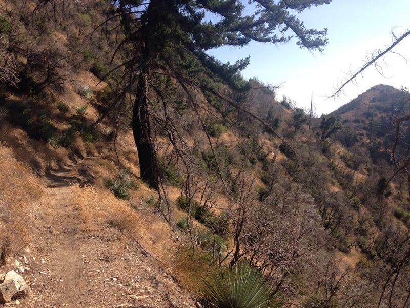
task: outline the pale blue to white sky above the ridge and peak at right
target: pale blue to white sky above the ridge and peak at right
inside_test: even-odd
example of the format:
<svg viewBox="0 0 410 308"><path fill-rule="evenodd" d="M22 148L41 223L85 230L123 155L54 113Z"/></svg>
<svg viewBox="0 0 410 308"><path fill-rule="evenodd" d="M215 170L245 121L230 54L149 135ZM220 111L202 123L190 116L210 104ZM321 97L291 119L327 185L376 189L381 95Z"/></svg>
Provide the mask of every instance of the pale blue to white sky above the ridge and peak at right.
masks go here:
<svg viewBox="0 0 410 308"><path fill-rule="evenodd" d="M339 98L330 99L349 70L360 68L366 55L384 49L393 41L392 30L400 35L410 28L410 0L333 0L329 5L312 7L299 15L306 28L327 28L329 44L322 53L310 52L296 45L251 42L242 48L222 47L211 50L217 59L231 63L251 56L242 71L244 78L256 77L264 83L282 85L277 98L285 95L298 107L310 106L311 93L316 113L329 113L350 102L378 84L400 89L410 87L410 37L406 38L380 62L383 75L368 68L355 84L350 84ZM406 57L409 61L403 59Z"/></svg>

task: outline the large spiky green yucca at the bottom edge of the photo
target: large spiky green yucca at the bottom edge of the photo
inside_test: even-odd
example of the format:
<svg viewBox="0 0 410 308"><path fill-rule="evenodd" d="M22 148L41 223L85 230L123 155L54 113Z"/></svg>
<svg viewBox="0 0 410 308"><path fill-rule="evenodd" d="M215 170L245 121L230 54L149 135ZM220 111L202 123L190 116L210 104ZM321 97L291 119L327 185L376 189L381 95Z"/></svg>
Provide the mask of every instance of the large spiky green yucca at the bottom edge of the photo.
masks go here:
<svg viewBox="0 0 410 308"><path fill-rule="evenodd" d="M200 287L202 302L209 308L276 308L277 295L262 274L247 262L223 268L206 277Z"/></svg>

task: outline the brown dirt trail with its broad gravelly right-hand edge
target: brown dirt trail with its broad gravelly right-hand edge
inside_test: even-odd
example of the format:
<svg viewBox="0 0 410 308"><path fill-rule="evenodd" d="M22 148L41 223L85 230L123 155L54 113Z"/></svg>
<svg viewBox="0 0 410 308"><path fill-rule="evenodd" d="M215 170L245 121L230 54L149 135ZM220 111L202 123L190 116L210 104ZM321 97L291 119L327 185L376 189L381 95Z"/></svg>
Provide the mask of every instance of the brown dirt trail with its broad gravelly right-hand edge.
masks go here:
<svg viewBox="0 0 410 308"><path fill-rule="evenodd" d="M132 237L108 225L92 231L84 225L71 183L84 183L78 170L89 169L81 160L50 172L34 214L30 251L20 258L33 298L20 306L195 307Z"/></svg>

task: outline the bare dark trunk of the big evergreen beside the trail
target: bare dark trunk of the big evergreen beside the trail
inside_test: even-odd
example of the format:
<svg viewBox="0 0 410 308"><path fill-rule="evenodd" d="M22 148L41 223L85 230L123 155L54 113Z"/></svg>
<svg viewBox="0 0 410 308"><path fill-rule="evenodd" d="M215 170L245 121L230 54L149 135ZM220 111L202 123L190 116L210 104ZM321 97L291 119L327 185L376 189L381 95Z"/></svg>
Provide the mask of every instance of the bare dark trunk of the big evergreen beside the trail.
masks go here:
<svg viewBox="0 0 410 308"><path fill-rule="evenodd" d="M147 71L141 71L138 77L137 93L132 112L132 132L138 150L141 179L152 188L158 189L159 167L152 140L147 95Z"/></svg>

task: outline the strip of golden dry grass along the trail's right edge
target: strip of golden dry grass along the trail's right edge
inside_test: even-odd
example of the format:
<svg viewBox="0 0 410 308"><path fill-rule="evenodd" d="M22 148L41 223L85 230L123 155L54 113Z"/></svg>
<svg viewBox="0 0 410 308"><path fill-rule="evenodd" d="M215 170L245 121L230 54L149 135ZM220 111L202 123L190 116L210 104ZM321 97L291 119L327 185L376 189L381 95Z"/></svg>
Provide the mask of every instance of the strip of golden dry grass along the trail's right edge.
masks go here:
<svg viewBox="0 0 410 308"><path fill-rule="evenodd" d="M141 188L149 192L144 185ZM176 242L170 226L160 216L149 210L135 210L129 202L118 200L105 189L73 187L73 191L73 198L88 229L97 230L109 225L121 230L128 240L135 238L187 290L195 293L198 289L196 282L214 269L209 255L194 255L189 245ZM138 191L141 193L140 189ZM141 200L144 202L145 199Z"/></svg>

